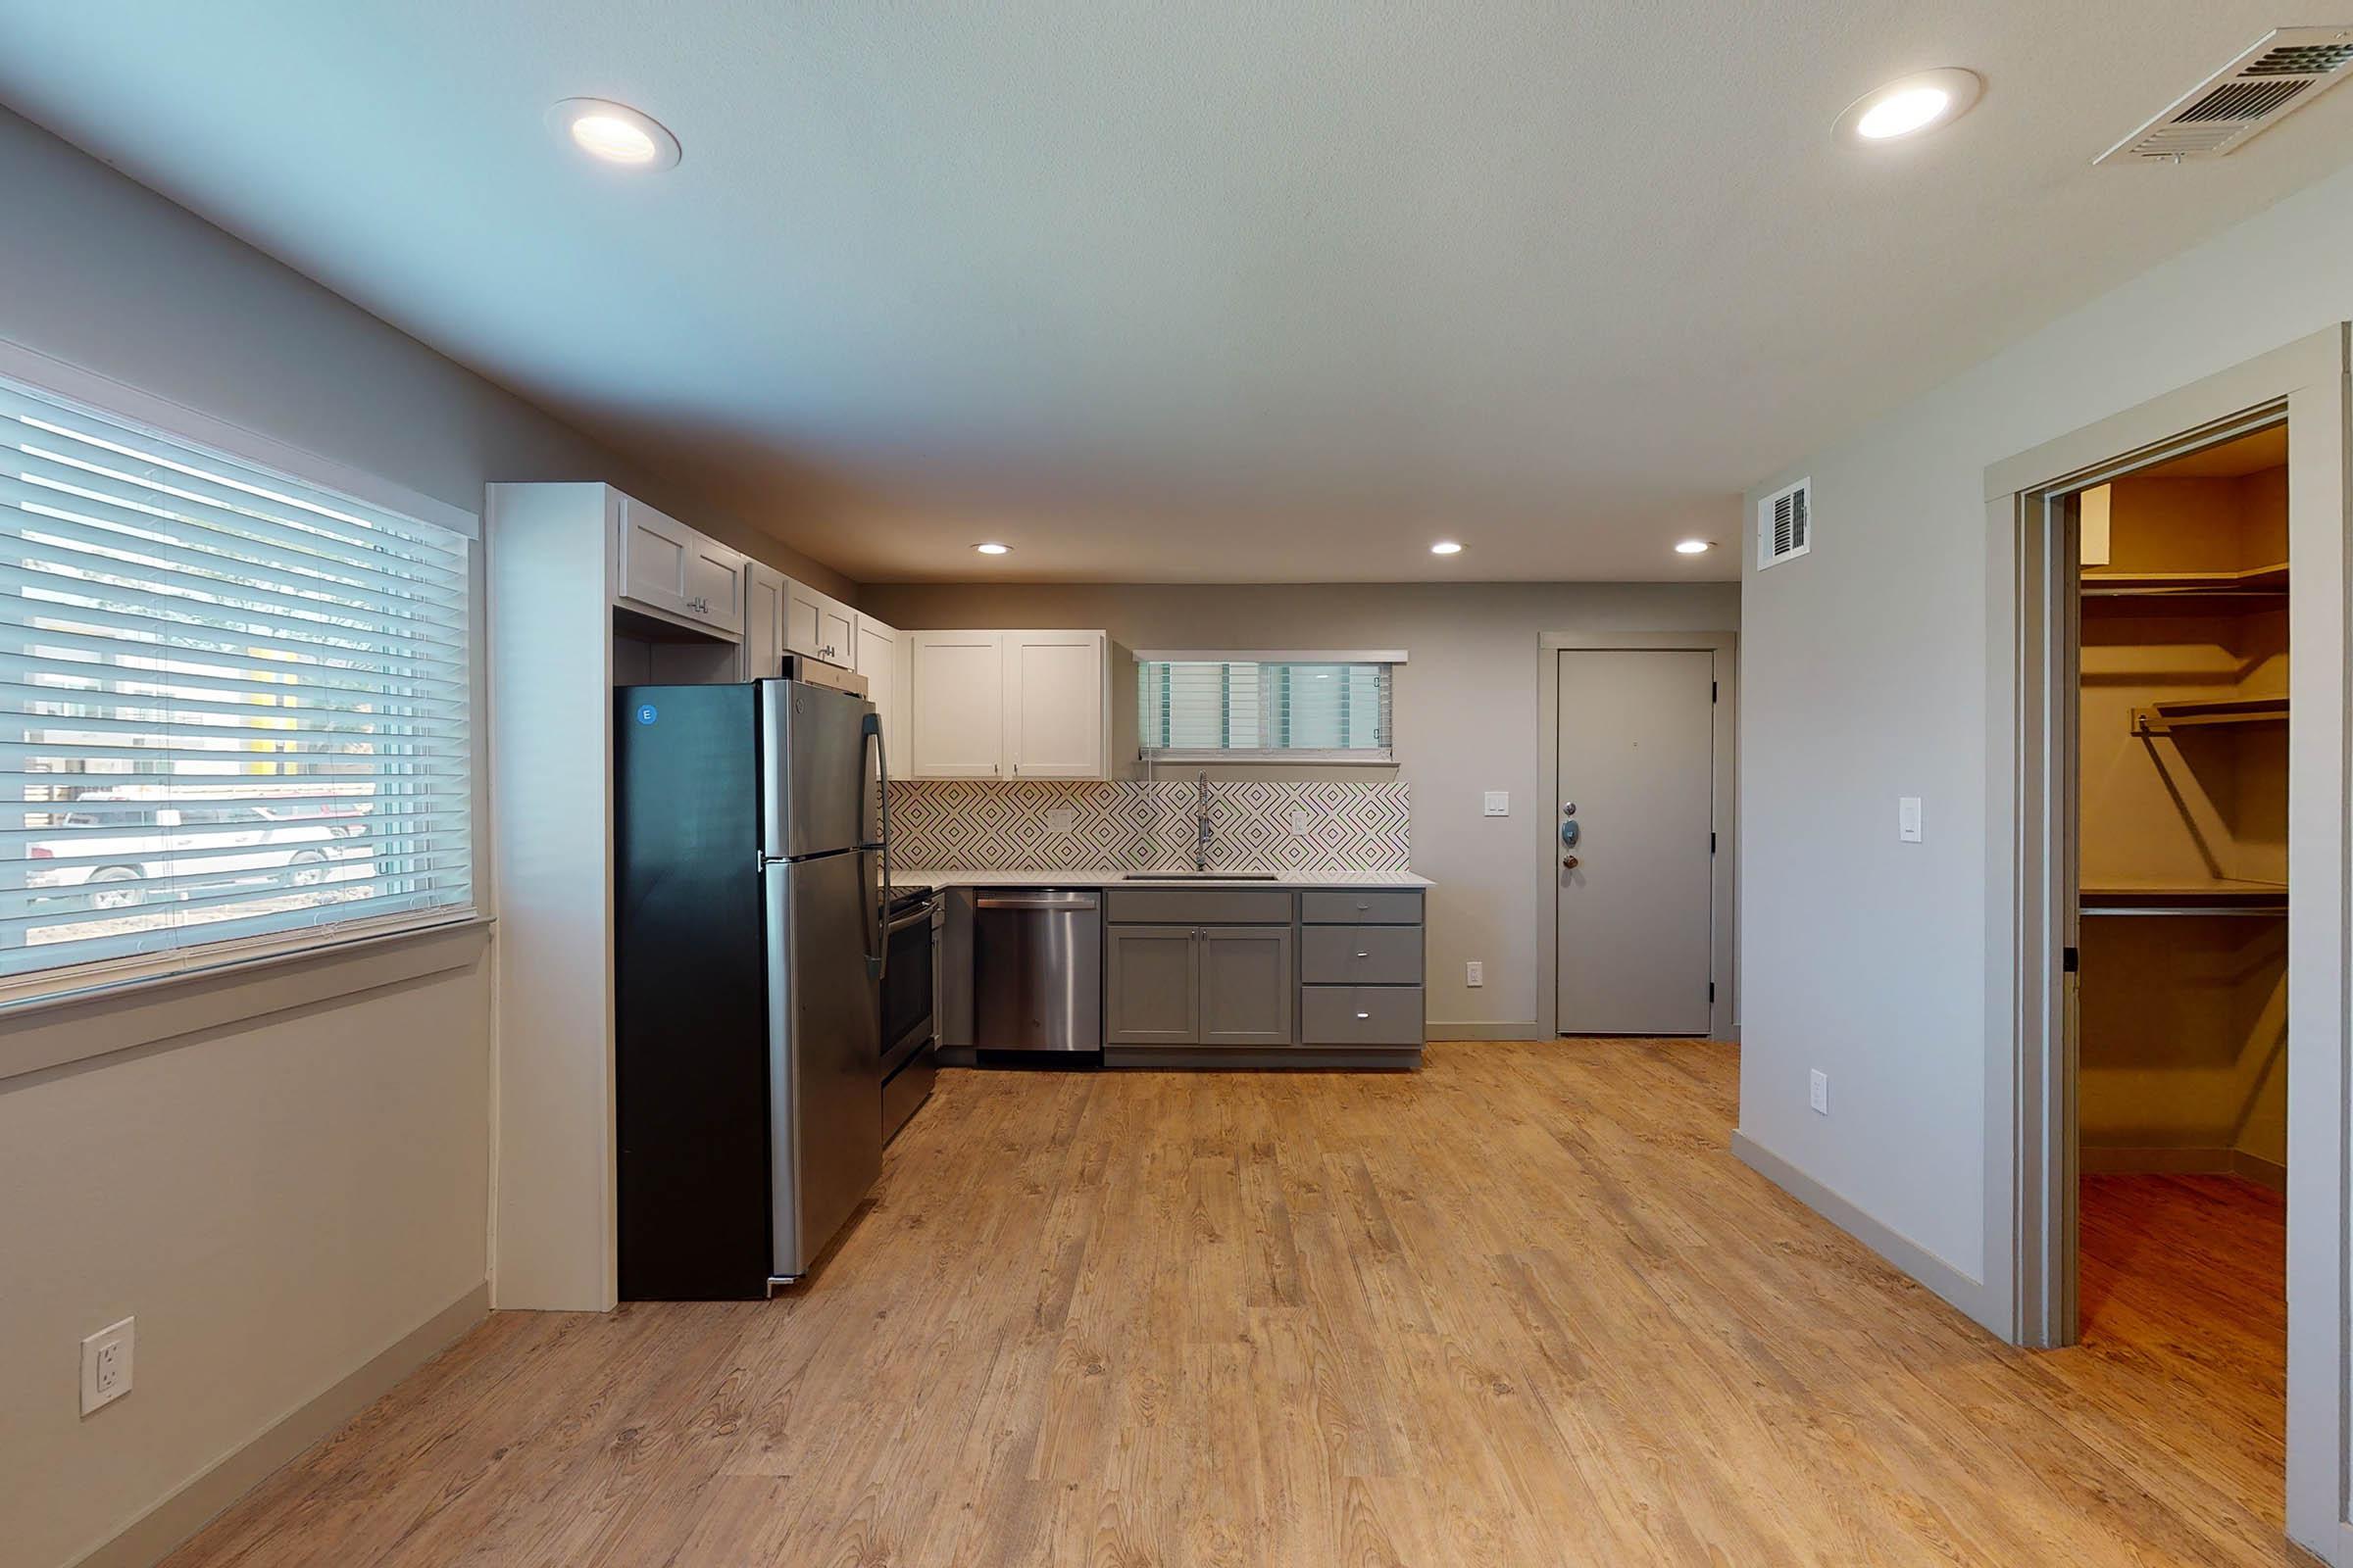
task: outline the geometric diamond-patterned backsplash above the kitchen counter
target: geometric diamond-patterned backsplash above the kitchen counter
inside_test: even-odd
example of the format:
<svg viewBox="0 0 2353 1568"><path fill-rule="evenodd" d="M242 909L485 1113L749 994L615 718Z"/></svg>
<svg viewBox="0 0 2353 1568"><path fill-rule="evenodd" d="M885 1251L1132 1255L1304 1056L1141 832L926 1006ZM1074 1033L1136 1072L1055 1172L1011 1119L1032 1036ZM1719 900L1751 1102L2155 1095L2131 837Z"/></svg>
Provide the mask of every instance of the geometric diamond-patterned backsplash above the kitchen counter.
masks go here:
<svg viewBox="0 0 2353 1568"><path fill-rule="evenodd" d="M1049 811L1068 811L1071 830L1049 832ZM889 853L918 870L1179 870L1193 865L1193 785L1174 780L915 778L889 790ZM1402 872L1412 823L1402 783L1212 783L1209 867Z"/></svg>

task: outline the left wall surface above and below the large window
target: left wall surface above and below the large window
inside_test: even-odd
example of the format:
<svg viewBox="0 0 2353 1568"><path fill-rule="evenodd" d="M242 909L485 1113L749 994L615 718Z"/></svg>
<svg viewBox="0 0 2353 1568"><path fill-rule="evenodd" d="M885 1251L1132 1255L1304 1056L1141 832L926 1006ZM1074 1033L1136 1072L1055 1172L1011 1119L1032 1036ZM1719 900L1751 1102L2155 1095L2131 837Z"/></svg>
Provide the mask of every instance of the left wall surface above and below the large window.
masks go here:
<svg viewBox="0 0 2353 1568"><path fill-rule="evenodd" d="M0 190L0 339L468 510L616 480L845 588L7 113ZM80 1559L478 1291L489 1095L487 961L0 1079L0 1561ZM82 1420L125 1314L136 1387Z"/></svg>

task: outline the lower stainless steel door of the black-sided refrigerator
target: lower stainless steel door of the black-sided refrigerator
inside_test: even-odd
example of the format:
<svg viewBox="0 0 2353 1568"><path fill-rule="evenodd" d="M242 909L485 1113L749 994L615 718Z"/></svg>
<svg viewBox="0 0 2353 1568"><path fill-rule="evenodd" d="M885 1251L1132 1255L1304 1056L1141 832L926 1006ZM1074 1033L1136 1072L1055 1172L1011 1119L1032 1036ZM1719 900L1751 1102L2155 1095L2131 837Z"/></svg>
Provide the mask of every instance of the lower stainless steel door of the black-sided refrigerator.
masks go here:
<svg viewBox="0 0 2353 1568"><path fill-rule="evenodd" d="M774 1276L800 1279L882 1175L882 1025L866 976L873 851L765 872Z"/></svg>

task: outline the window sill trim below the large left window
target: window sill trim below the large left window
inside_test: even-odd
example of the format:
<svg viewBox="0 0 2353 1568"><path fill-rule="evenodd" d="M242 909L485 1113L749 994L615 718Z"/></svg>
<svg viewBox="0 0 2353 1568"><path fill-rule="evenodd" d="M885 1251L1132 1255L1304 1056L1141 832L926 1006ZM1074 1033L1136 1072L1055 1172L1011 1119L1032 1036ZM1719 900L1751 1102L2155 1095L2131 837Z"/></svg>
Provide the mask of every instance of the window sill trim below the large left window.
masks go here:
<svg viewBox="0 0 2353 1568"><path fill-rule="evenodd" d="M471 914L209 969L26 997L0 1009L0 1081L466 969L482 957L492 926L489 917Z"/></svg>

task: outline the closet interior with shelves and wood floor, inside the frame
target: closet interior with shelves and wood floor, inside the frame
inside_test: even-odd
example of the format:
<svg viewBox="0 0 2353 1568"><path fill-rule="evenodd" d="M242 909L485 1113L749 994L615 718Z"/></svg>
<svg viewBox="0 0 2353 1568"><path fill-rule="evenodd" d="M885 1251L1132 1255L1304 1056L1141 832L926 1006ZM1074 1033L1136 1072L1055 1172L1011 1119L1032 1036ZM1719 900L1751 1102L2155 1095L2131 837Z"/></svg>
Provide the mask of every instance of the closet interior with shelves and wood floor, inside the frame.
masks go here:
<svg viewBox="0 0 2353 1568"><path fill-rule="evenodd" d="M2075 541L2073 1335L2280 1474L2287 421L2061 494ZM2061 806L2068 802L2061 802ZM2273 1481L2275 1483L2275 1481Z"/></svg>

